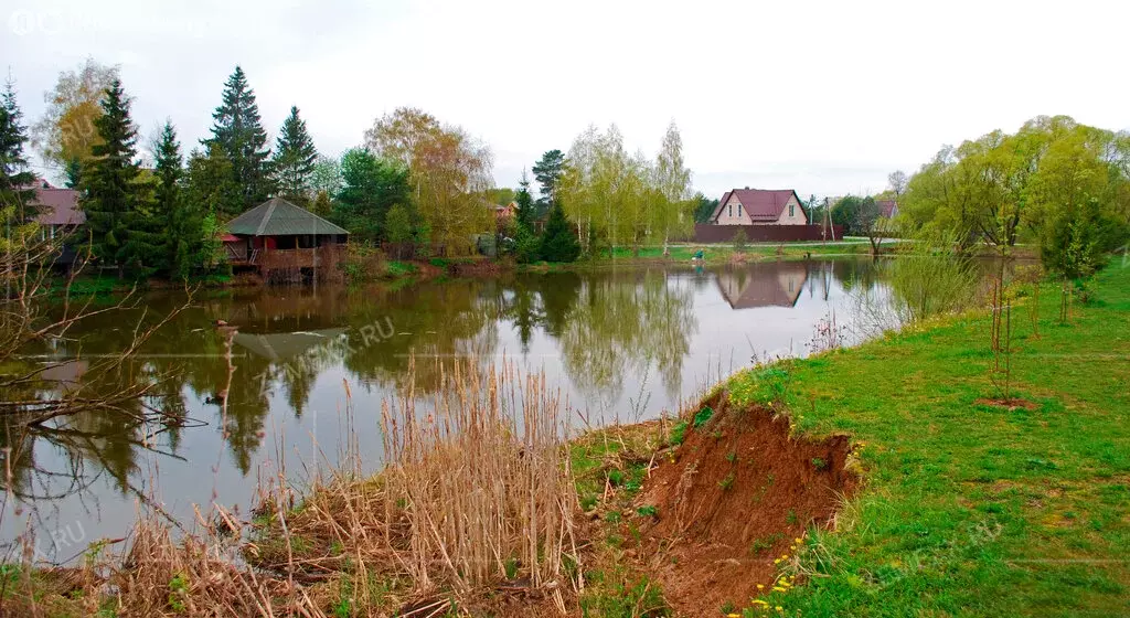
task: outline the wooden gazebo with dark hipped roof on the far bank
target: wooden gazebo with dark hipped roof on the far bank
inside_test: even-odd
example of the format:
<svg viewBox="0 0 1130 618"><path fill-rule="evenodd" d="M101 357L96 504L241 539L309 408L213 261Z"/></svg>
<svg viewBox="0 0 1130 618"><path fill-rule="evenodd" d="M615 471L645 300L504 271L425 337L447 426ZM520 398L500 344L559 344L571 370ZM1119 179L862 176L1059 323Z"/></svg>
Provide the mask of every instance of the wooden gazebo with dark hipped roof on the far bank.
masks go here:
<svg viewBox="0 0 1130 618"><path fill-rule="evenodd" d="M332 275L348 237L348 232L305 208L271 198L232 219L223 241L233 267L252 267L270 280L305 272L315 278Z"/></svg>

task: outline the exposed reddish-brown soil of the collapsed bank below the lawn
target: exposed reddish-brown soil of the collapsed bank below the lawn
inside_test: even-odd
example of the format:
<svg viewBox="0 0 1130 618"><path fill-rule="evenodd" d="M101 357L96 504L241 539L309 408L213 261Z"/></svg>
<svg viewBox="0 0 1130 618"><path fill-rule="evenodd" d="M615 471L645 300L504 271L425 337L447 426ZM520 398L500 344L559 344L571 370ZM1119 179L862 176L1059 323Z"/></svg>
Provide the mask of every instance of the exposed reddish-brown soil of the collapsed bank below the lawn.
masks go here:
<svg viewBox="0 0 1130 618"><path fill-rule="evenodd" d="M658 515L643 526L642 556L663 595L686 616L746 607L757 584L772 587L775 558L810 524L827 525L855 476L844 465L846 436L789 436L789 423L764 408L729 407L725 393L703 406L714 416L688 428L681 446L652 471L640 506ZM728 409L729 408L729 409Z"/></svg>

